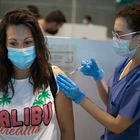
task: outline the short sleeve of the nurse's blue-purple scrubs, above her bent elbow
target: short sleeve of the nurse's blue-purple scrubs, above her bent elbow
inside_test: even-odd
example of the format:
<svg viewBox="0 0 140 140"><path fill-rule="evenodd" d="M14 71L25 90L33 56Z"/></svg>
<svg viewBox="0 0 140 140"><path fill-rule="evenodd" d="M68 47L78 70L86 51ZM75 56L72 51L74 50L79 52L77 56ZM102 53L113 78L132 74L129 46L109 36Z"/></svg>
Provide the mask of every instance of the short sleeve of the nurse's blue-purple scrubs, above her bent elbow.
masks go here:
<svg viewBox="0 0 140 140"><path fill-rule="evenodd" d="M140 80L126 90L120 104L119 115L128 117L134 122L140 119Z"/></svg>

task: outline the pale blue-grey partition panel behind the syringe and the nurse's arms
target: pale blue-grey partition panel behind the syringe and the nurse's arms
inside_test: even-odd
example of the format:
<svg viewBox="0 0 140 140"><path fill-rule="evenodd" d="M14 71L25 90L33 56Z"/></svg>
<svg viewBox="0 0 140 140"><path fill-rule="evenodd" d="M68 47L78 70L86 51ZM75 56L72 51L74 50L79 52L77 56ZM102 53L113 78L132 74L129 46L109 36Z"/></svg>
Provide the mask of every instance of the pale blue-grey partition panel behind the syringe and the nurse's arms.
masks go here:
<svg viewBox="0 0 140 140"><path fill-rule="evenodd" d="M121 60L121 57L114 53L111 41L49 38L48 44L52 55L55 55L54 59L57 57L60 58L61 55L62 57L59 59L60 61L63 61L63 56L73 58L69 59L70 61L67 61L67 63L63 63L62 68L65 65L64 70L67 73L76 66L79 66L81 60L95 58L104 69L105 79L107 80L109 76L112 75L115 65ZM53 46L54 50L52 49ZM55 49L55 47L58 48ZM73 62L71 60L73 60ZM58 62L58 65L61 64L60 61ZM57 61L54 62L56 62L57 65ZM71 69L70 67L68 68L67 65L68 67L70 66ZM83 90L88 97L95 100L100 107L106 110L97 95L95 83L92 78L83 76L80 72L77 72L71 78L79 85L81 90ZM86 113L79 105L74 103L73 105L76 140L99 140L104 131L103 126Z"/></svg>

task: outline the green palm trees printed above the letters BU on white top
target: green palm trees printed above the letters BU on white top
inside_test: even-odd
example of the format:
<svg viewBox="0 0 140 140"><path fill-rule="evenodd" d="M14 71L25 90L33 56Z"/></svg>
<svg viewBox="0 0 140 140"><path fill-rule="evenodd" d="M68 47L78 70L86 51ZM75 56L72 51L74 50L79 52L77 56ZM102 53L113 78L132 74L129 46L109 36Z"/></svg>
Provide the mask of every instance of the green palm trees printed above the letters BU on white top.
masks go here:
<svg viewBox="0 0 140 140"><path fill-rule="evenodd" d="M45 104L47 98L50 99L49 91L43 90L34 100L33 106L42 106Z"/></svg>

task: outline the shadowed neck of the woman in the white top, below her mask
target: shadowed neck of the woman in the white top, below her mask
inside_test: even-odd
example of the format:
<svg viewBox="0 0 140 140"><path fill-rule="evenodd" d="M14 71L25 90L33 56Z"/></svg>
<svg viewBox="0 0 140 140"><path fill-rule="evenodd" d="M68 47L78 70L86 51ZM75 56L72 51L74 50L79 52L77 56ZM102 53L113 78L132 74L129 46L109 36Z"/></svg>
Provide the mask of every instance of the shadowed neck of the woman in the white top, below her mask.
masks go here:
<svg viewBox="0 0 140 140"><path fill-rule="evenodd" d="M15 79L25 79L29 76L29 69L15 68Z"/></svg>

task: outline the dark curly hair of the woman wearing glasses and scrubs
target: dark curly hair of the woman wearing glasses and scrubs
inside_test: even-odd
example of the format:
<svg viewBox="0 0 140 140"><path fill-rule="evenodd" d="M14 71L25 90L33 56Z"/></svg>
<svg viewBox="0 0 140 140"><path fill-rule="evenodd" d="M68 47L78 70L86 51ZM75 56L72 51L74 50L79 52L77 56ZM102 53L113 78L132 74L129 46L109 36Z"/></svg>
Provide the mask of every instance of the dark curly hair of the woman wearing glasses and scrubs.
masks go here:
<svg viewBox="0 0 140 140"><path fill-rule="evenodd" d="M126 19L129 29L140 31L140 3L124 6L116 14L116 18L119 17Z"/></svg>

